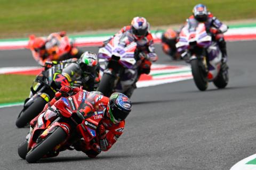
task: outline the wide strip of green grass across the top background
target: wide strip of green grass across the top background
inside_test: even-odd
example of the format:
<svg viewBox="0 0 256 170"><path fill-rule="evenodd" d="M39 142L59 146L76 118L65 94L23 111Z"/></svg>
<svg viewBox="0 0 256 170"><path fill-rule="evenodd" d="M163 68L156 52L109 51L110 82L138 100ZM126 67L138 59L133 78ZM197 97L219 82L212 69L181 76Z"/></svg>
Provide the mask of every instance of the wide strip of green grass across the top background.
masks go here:
<svg viewBox="0 0 256 170"><path fill-rule="evenodd" d="M0 0L0 38L121 28L137 15L154 26L183 23L197 3L206 4L221 20L256 15L255 0Z"/></svg>

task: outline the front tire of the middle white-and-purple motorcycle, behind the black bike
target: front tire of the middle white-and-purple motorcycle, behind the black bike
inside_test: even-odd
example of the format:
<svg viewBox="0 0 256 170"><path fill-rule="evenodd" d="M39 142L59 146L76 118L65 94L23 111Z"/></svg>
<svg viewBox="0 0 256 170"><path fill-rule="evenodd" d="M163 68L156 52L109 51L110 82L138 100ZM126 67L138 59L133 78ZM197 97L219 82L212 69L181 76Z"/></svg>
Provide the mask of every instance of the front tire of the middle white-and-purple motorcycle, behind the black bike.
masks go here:
<svg viewBox="0 0 256 170"><path fill-rule="evenodd" d="M103 74L97 91L100 91L104 96L109 97L113 91L114 81L115 79L113 75Z"/></svg>

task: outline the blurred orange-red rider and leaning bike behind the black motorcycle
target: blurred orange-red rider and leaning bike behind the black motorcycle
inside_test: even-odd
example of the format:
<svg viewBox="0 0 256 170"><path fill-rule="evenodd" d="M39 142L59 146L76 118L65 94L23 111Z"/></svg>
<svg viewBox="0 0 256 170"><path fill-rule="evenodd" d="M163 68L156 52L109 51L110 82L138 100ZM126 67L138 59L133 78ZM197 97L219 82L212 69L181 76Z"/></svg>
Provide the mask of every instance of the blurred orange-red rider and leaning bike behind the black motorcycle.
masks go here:
<svg viewBox="0 0 256 170"><path fill-rule="evenodd" d="M46 61L62 61L71 57L79 58L81 52L72 45L66 45L66 52L58 53L62 41L68 41L65 31L51 33L47 38L29 37L29 48L35 60L43 65ZM66 42L65 42L66 43Z"/></svg>

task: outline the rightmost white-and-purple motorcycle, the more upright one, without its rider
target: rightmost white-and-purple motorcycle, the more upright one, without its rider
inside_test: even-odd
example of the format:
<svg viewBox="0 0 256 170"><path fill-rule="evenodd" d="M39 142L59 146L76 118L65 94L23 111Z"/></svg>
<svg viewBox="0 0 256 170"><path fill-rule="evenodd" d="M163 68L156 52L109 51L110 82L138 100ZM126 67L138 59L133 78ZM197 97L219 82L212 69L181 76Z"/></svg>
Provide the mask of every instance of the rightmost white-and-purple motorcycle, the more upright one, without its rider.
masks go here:
<svg viewBox="0 0 256 170"><path fill-rule="evenodd" d="M218 44L207 33L204 23L187 25L180 33L176 45L181 56L191 64L191 71L197 88L204 91L208 82L217 88L228 84L228 70L221 66L221 51Z"/></svg>

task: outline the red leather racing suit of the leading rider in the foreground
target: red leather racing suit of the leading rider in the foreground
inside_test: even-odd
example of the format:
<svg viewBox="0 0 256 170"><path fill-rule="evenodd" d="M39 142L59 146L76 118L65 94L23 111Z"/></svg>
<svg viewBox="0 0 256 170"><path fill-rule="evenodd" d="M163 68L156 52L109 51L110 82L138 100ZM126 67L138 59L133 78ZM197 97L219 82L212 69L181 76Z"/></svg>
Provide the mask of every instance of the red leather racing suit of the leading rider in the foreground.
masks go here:
<svg viewBox="0 0 256 170"><path fill-rule="evenodd" d="M48 107L51 107L58 99L61 98L61 96L63 96L63 93L61 91L64 88L69 88L68 92L72 91L74 92L74 95L80 89L78 87L74 87L74 88L71 88L68 86L62 87L60 91L56 92L55 97L48 104L45 105L43 111L39 115L43 114ZM108 103L109 103L108 97L101 95L101 92L98 92L98 91L92 91L92 92L89 92L86 90L84 91L87 93L87 98L85 99L85 103L89 102L90 103L89 105L93 106L93 108L89 106L85 107L84 116L90 112L103 112L103 118L98 124L98 128L97 128L98 141L92 143L91 146L86 146L85 141L83 139L79 139L78 141L73 143L73 146L77 151L83 151L88 157L94 158L98 154L100 154L101 151L107 151L114 145L114 143L123 133L125 121L121 121L117 124L114 124L107 117ZM36 116L30 122L30 126L32 128L34 128L35 124L37 123L37 119L39 115ZM103 132L102 131L100 132L99 128L103 129ZM53 156L57 156L58 154L59 152L57 152L57 154Z"/></svg>

